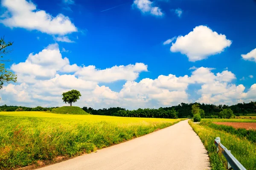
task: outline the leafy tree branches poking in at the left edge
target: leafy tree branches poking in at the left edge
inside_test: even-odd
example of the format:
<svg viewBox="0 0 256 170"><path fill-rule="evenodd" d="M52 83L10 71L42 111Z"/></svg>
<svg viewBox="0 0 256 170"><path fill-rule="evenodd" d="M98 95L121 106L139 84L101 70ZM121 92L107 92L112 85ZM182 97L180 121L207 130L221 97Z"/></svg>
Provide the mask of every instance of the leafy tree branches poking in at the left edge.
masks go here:
<svg viewBox="0 0 256 170"><path fill-rule="evenodd" d="M13 42L6 42L4 41L4 37L0 38L0 89L3 88L3 83L9 82L16 82L17 75L13 74L11 71L7 71L5 68L4 63L2 62L9 62L9 59L1 59L3 58L3 54L9 54L12 50L9 50L8 47L12 45ZM0 98L1 99L1 98Z"/></svg>

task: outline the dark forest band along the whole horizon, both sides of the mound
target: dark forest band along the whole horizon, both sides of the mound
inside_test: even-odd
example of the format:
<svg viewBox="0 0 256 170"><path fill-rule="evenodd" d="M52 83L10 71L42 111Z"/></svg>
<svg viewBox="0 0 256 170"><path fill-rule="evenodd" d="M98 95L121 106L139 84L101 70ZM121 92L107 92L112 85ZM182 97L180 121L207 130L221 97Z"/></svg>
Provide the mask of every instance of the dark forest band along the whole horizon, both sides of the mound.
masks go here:
<svg viewBox="0 0 256 170"><path fill-rule="evenodd" d="M203 118L221 118L221 111L230 108L236 116L247 115L249 113L256 113L256 102L239 103L236 105L209 105L200 103L181 103L177 106L159 109L137 109L126 110L125 108L103 108L95 110L93 108L83 107L82 109L87 113L93 115L106 115L106 116L125 116L125 117L155 117L155 118L185 118L192 117L192 105L198 104L199 108L204 110ZM51 111L52 108L43 108L38 106L36 108L28 108L22 106L0 106L0 111Z"/></svg>

